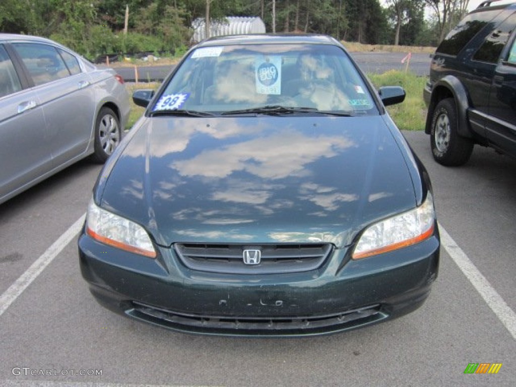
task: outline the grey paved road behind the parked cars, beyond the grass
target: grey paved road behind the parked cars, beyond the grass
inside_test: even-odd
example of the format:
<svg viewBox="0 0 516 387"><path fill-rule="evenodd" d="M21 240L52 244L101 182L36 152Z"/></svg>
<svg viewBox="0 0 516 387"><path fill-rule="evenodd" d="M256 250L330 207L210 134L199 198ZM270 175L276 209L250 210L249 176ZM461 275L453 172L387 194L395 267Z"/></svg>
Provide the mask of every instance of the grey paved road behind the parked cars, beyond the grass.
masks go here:
<svg viewBox="0 0 516 387"><path fill-rule="evenodd" d="M351 53L359 66L367 73L384 73L391 69L405 70L407 62L401 63L407 53ZM417 75L427 75L430 69L429 54L412 54L409 62L409 70ZM116 66L116 64L114 64ZM126 82L161 82L172 70L172 66L140 66L135 71L134 67L117 67L116 71Z"/></svg>

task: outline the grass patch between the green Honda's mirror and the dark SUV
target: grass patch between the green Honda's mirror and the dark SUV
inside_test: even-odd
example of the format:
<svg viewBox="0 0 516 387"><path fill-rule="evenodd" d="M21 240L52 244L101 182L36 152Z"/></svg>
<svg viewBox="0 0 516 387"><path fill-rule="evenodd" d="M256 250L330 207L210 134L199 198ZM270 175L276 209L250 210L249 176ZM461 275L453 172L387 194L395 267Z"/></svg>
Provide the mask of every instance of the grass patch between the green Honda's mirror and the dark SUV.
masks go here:
<svg viewBox="0 0 516 387"><path fill-rule="evenodd" d="M426 77L410 72L390 70L383 74L367 74L376 88L381 86L401 86L407 96L398 105L388 106L387 110L400 130L422 131L425 128L426 106L423 89Z"/></svg>

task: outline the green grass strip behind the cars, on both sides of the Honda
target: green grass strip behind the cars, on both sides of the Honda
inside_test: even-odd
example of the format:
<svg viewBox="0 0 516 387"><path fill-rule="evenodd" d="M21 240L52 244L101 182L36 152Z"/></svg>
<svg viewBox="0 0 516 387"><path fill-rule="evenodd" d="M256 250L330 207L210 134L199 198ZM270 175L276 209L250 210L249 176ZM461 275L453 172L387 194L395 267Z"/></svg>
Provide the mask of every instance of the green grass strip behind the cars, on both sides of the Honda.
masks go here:
<svg viewBox="0 0 516 387"><path fill-rule="evenodd" d="M387 110L400 130L424 130L426 106L423 101L423 88L425 87L426 77L397 70L391 70L383 74L367 74L367 76L376 88L381 86L401 86L404 88L407 93L405 101L398 105L389 106ZM159 83L156 82L125 85L131 95L135 90L157 90L158 86ZM125 125L125 130L129 130L144 111L143 107L136 106L131 99L131 114Z"/></svg>

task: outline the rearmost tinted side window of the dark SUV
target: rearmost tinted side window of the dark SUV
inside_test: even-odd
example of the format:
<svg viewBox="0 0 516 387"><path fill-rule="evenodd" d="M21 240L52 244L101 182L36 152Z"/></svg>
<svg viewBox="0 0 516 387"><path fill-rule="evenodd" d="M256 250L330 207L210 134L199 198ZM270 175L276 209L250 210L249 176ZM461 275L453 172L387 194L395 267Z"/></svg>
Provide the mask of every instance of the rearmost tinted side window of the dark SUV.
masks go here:
<svg viewBox="0 0 516 387"><path fill-rule="evenodd" d="M472 12L452 29L439 45L437 52L456 56L483 27L496 15L499 9L482 12Z"/></svg>

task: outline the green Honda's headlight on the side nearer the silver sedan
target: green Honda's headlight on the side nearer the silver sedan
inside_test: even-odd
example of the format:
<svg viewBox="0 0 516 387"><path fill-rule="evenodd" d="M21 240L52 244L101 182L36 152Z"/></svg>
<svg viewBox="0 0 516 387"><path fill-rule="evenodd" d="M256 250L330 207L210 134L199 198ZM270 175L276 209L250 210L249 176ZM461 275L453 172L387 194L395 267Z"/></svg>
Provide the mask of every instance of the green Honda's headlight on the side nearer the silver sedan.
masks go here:
<svg viewBox="0 0 516 387"><path fill-rule="evenodd" d="M88 205L86 233L106 245L156 257L149 234L139 224L98 207L93 199Z"/></svg>

